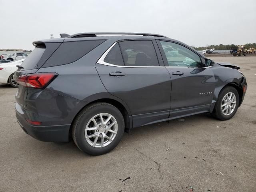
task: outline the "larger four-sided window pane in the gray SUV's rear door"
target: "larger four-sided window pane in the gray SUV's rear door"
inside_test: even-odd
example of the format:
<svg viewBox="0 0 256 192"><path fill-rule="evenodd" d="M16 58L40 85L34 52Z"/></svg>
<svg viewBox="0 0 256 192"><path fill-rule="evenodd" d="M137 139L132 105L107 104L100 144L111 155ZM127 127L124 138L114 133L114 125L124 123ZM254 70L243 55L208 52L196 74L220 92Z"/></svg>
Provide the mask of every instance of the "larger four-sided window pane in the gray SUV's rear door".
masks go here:
<svg viewBox="0 0 256 192"><path fill-rule="evenodd" d="M159 66L151 40L132 40L119 43L125 66Z"/></svg>

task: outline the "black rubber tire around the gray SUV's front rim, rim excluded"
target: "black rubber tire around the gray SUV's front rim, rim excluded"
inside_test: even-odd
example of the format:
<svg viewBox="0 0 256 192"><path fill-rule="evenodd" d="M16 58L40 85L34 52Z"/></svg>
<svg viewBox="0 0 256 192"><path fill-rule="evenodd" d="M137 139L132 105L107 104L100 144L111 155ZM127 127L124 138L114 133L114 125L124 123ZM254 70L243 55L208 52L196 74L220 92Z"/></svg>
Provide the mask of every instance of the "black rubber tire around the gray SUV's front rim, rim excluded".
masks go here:
<svg viewBox="0 0 256 192"><path fill-rule="evenodd" d="M224 96L227 93L229 93L229 92L234 93L234 95L236 96L236 106L234 108L234 111L230 115L224 115L223 112L222 112L222 108L221 108L222 100L223 100ZM236 114L238 106L239 106L239 94L238 94L238 91L236 90L236 88L234 88L232 86L226 86L226 87L224 87L220 91L220 94L218 96L218 100L217 100L217 102L215 104L215 107L214 107L214 110L212 112L212 115L215 118L217 118L218 120L229 120L229 119L231 119Z"/></svg>

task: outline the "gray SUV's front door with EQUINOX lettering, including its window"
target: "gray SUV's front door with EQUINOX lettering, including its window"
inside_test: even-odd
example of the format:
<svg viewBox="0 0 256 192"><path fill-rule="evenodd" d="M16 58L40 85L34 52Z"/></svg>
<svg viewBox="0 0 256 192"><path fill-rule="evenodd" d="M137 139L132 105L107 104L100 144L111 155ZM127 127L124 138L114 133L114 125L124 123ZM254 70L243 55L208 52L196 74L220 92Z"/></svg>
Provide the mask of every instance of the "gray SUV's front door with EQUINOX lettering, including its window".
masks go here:
<svg viewBox="0 0 256 192"><path fill-rule="evenodd" d="M172 81L170 119L207 112L212 103L215 77L211 67L192 49L176 42L158 41Z"/></svg>

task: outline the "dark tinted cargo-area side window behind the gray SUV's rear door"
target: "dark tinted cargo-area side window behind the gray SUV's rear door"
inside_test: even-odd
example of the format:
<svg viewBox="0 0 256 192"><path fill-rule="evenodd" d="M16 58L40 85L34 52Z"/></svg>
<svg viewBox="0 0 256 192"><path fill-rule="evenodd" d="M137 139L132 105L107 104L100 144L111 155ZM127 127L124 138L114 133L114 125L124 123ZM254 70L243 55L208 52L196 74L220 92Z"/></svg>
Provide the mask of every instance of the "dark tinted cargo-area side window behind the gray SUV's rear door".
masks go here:
<svg viewBox="0 0 256 192"><path fill-rule="evenodd" d="M63 42L42 67L69 64L80 59L105 40Z"/></svg>

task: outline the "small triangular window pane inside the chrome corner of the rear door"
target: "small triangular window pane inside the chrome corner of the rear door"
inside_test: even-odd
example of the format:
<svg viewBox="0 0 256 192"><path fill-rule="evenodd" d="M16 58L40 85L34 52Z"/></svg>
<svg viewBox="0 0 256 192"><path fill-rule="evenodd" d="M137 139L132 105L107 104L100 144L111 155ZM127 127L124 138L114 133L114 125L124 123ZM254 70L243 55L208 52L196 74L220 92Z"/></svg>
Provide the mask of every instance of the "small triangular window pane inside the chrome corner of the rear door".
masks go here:
<svg viewBox="0 0 256 192"><path fill-rule="evenodd" d="M108 52L107 56L104 59L104 62L113 65L124 65L124 61L118 43L116 43L114 47L110 50L110 52Z"/></svg>

